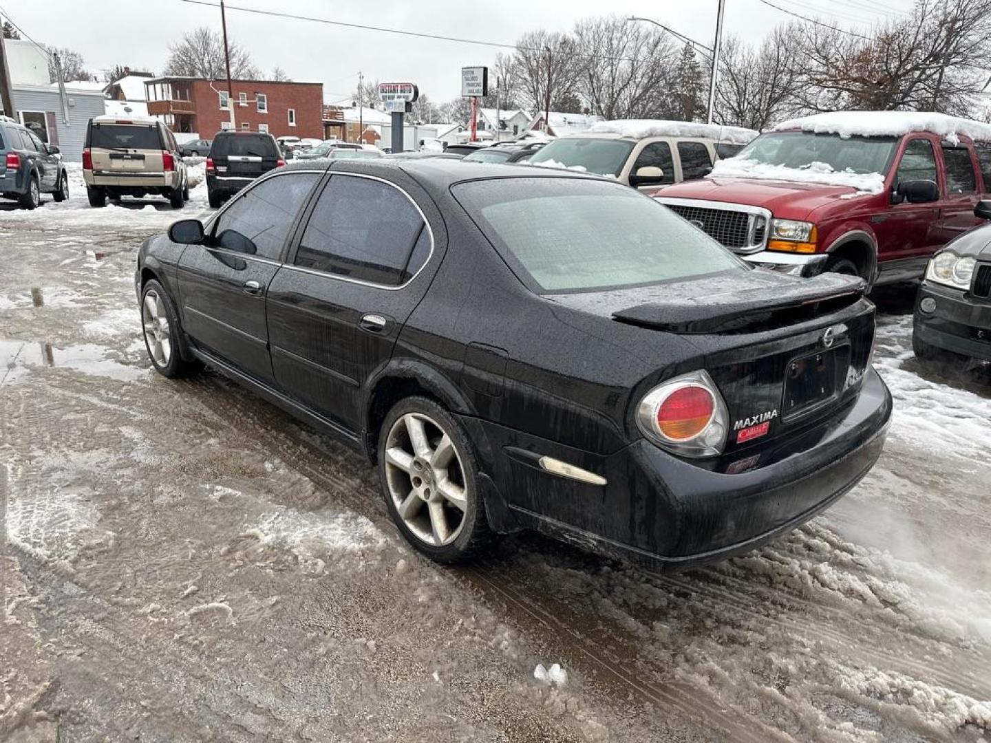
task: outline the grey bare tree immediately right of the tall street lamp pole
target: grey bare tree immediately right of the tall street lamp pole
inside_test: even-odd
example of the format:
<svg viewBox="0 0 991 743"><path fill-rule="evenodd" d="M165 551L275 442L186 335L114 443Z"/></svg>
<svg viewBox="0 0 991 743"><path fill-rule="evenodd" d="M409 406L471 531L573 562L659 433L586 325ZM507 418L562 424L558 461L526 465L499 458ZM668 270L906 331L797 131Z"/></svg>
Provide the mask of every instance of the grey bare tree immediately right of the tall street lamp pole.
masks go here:
<svg viewBox="0 0 991 743"><path fill-rule="evenodd" d="M779 26L758 49L734 37L723 41L716 85L718 123L759 131L797 113L800 26Z"/></svg>

